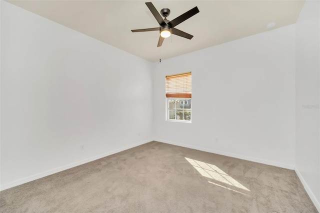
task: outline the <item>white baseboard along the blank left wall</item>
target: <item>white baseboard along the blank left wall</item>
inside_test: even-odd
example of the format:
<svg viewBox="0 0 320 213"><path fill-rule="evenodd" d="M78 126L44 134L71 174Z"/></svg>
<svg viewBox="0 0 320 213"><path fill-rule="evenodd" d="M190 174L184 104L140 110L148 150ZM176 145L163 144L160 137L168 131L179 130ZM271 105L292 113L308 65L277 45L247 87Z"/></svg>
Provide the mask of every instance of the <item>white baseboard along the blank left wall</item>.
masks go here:
<svg viewBox="0 0 320 213"><path fill-rule="evenodd" d="M0 185L0 191L1 190L5 190L7 188L11 188L11 187L17 186L17 185L20 185L20 184L23 184L23 183L26 183L26 182L30 182L30 181L35 180L35 179L39 179L41 177L48 176L50 174L54 174L54 173L57 173L57 172L72 168L72 167L75 167L75 166L78 166L78 165L81 165L81 164L84 164L84 163L87 163L87 162L90 162L90 161L93 161L93 160L96 160L96 159L99 159L99 158L102 158L102 157L106 157L108 155L115 154L117 152L124 151L126 149L133 148L135 146L142 145L142 144L150 142L150 141L152 141L152 140L144 140L144 141L137 142L137 143L134 143L134 144L122 147L122 148L118 148L118 149L112 150L112 151L108 151L108 152L105 152L105 153L102 153L102 154L99 154L99 155L96 155L96 156L93 156L93 157L89 157L89 158L86 158L86 159L83 159L83 160L79 160L79 161L76 161L76 162L73 162L73 163L69 163L69 164L66 164L66 165L63 165L63 166L60 166L60 167L57 167L57 168L49 169L49 170L46 170L46 171L43 171L43 172L40 172L40 173L37 173L37 174L33 174L33 175L30 175L30 176L27 176L27 177L23 177L23 178L20 178L20 179L17 179L17 180L14 180L14 181L11 181L11 182L8 182L8 183Z"/></svg>

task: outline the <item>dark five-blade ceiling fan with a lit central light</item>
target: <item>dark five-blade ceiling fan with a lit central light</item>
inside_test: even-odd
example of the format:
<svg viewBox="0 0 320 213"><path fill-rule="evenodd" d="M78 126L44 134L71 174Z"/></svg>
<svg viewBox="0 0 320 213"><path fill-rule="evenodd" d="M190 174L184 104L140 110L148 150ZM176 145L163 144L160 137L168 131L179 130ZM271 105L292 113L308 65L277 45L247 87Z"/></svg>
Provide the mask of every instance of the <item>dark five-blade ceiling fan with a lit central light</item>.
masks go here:
<svg viewBox="0 0 320 213"><path fill-rule="evenodd" d="M145 4L150 9L151 13L155 17L156 21L160 24L160 26L153 27L153 28L146 28L146 29L131 29L132 32L145 32L145 31L159 30L160 36L159 36L157 46L161 46L164 38L169 37L171 33L181 37L185 37L187 39L191 39L193 37L193 35L183 32L177 28L174 28L174 26L178 25L179 23L185 21L189 17L198 13L199 12L198 7L195 6L189 11L184 12L182 15L170 21L166 19L166 17L170 14L170 9L168 8L161 9L160 13L164 17L163 19L151 2L145 2Z"/></svg>

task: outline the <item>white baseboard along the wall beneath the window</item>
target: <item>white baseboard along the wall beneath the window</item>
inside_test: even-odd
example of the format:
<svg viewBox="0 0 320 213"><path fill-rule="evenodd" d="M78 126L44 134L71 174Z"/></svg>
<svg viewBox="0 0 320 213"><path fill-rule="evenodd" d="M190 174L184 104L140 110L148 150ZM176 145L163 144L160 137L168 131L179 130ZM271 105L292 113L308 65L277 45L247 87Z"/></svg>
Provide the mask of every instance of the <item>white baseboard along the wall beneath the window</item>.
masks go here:
<svg viewBox="0 0 320 213"><path fill-rule="evenodd" d="M153 140L154 141L168 143L168 144L172 144L172 145L178 145L178 146L182 146L182 147L186 147L186 148L192 148L192 149L196 149L196 150L200 150L200 151L206 151L206 152L211 152L211 153L215 153L215 154L221 154L221 155L224 155L224 156L235 157L235 158L249 160L249 161L253 161L253 162L259 162L259 163L263 163L263 164L267 164L267 165L274 165L274 166L281 167L281 168L288 168L288 169L291 169L291 170L294 169L294 165L285 164L285 163L281 163L281 162L270 161L270 160L265 160L265 159L259 159L259 158L255 158L255 157L250 157L250 156L245 156L245 155L240 155L240 154L234 154L234 153L219 151L219 150L215 150L215 149L203 148L203 147L194 146L194 145L176 143L176 142L172 142L172 141L168 141L168 140L162 140L162 139L159 139L159 138L153 138Z"/></svg>

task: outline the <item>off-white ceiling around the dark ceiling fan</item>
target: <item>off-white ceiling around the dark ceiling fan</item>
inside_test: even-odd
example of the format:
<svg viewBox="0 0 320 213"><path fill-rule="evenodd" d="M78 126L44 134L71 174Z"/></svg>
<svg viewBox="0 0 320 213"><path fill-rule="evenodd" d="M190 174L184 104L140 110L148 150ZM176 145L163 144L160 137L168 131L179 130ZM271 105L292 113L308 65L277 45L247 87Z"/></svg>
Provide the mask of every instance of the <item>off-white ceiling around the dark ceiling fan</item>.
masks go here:
<svg viewBox="0 0 320 213"><path fill-rule="evenodd" d="M19 7L89 35L149 61L158 61L241 37L295 23L304 0L153 0L160 11L171 10L172 20L197 6L199 13L176 28L194 37L171 35L156 47L159 32L131 32L157 27L141 0L7 0Z"/></svg>

